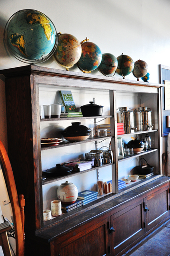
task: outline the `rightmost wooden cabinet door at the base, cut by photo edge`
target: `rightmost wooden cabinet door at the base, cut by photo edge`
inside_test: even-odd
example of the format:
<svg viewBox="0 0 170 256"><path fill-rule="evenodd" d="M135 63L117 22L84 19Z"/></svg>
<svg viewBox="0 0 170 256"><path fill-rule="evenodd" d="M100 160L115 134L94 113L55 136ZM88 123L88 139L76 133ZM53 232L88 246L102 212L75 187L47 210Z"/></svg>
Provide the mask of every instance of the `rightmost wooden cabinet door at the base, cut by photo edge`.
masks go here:
<svg viewBox="0 0 170 256"><path fill-rule="evenodd" d="M170 215L169 185L145 198L146 231L152 229Z"/></svg>

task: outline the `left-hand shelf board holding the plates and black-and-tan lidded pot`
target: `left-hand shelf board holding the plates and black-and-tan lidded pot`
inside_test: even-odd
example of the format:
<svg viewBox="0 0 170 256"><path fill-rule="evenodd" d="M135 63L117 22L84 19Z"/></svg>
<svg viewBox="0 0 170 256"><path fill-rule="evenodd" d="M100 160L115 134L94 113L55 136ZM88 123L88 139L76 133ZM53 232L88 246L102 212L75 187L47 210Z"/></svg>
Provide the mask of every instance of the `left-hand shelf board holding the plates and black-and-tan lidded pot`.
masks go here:
<svg viewBox="0 0 170 256"><path fill-rule="evenodd" d="M87 143L87 142L93 142L93 141L101 141L105 140L108 138L112 138L112 136L107 136L107 137L93 137L93 138L88 138L86 140L82 141L64 141L62 143L59 143L58 146L45 146L41 147L41 150L46 150L46 149L51 149L51 148L58 148L58 147L63 147L63 146L72 146L72 145L77 145L77 144L82 144L82 143Z"/></svg>

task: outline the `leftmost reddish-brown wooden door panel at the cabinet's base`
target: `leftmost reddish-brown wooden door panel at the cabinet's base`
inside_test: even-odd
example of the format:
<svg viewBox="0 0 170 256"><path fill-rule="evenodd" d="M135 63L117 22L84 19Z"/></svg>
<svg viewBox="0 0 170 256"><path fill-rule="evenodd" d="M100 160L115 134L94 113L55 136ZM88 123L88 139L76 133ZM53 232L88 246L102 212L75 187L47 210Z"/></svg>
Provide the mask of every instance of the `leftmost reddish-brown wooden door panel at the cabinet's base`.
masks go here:
<svg viewBox="0 0 170 256"><path fill-rule="evenodd" d="M51 255L106 256L108 250L107 219L97 219L54 240Z"/></svg>

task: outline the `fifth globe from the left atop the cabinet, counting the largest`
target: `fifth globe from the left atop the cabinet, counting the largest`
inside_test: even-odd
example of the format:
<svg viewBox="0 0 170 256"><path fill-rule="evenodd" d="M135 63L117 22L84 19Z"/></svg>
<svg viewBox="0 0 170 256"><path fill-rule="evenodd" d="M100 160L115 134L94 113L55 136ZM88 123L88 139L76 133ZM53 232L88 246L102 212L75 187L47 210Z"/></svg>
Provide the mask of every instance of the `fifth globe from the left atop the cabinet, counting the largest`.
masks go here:
<svg viewBox="0 0 170 256"><path fill-rule="evenodd" d="M130 74L134 69L134 61L128 55L120 55L117 57L118 67L116 73L125 77Z"/></svg>

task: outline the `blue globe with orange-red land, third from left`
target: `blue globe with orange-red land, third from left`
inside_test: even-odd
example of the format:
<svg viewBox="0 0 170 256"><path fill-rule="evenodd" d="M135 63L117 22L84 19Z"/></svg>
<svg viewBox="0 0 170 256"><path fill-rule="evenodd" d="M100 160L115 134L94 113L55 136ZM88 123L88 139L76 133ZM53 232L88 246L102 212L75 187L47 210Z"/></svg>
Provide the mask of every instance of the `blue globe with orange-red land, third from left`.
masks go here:
<svg viewBox="0 0 170 256"><path fill-rule="evenodd" d="M79 69L84 73L89 73L98 68L101 63L102 54L100 48L87 39L81 42L82 53L77 62Z"/></svg>

